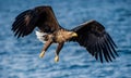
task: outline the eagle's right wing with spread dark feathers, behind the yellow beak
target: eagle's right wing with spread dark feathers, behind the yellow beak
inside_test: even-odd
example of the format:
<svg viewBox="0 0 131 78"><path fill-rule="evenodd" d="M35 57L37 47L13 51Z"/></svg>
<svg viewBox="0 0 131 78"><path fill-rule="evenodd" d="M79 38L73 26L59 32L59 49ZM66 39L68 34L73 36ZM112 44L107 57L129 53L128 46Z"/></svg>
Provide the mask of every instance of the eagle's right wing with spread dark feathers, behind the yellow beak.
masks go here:
<svg viewBox="0 0 131 78"><path fill-rule="evenodd" d="M79 27L72 29L78 34L73 41L78 41L80 46L95 56L96 60L104 62L111 62L112 58L118 56L116 52L117 46L111 37L106 32L105 27L96 21L90 21Z"/></svg>

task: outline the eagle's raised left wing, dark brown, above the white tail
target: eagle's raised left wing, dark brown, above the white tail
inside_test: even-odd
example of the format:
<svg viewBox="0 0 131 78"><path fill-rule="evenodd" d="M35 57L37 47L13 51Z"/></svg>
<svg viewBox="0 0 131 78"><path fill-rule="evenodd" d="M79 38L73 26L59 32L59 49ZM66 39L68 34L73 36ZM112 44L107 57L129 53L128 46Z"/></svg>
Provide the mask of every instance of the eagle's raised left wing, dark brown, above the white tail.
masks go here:
<svg viewBox="0 0 131 78"><path fill-rule="evenodd" d="M19 14L12 25L12 30L19 38L27 36L35 27L44 32L53 32L59 28L51 6L37 6Z"/></svg>

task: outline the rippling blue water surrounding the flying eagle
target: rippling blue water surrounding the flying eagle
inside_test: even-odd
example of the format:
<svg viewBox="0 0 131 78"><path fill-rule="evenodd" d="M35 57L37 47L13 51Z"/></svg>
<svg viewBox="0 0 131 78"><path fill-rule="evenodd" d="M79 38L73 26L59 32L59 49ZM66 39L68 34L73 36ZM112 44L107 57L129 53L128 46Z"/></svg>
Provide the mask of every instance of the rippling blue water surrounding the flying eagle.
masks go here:
<svg viewBox="0 0 131 78"><path fill-rule="evenodd" d="M59 63L56 44L44 58L35 34L16 39L14 17L37 5L51 5L61 26L73 28L88 20L100 22L118 46L112 63L95 61L78 43L66 43ZM131 0L0 0L0 78L131 78Z"/></svg>

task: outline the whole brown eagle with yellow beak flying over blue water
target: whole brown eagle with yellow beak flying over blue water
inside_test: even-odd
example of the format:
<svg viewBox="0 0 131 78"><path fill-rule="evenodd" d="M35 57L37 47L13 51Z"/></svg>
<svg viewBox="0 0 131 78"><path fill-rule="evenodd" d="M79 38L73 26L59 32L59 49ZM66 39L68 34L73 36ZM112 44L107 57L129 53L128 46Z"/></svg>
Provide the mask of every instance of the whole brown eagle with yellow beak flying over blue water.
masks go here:
<svg viewBox="0 0 131 78"><path fill-rule="evenodd" d="M36 27L37 38L45 42L39 57L44 57L52 43L58 43L55 52L55 62L58 62L59 53L66 42L78 42L102 63L112 62L118 56L116 43L105 27L95 20L80 24L73 29L66 29L58 23L50 5L40 5L19 14L11 30L15 37L21 38L32 34Z"/></svg>

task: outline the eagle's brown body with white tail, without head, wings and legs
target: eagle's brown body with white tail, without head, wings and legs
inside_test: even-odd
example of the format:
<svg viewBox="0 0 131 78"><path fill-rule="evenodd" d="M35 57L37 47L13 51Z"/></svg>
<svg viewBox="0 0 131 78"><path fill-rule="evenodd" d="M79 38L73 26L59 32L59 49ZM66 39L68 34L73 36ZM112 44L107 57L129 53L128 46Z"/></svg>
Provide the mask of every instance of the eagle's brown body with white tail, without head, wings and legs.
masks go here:
<svg viewBox="0 0 131 78"><path fill-rule="evenodd" d="M40 41L43 41L43 42L48 41L48 40L52 40L56 43L66 42L66 41L68 41L70 35L71 34L64 29L59 29L58 31L56 31L53 34L45 34L43 31L36 31L37 38L39 36L41 36Z"/></svg>

